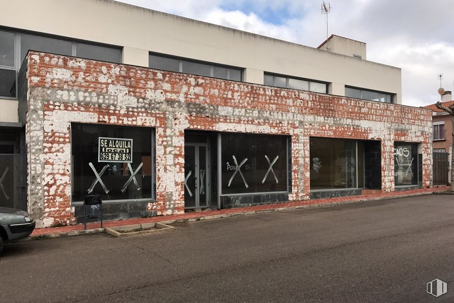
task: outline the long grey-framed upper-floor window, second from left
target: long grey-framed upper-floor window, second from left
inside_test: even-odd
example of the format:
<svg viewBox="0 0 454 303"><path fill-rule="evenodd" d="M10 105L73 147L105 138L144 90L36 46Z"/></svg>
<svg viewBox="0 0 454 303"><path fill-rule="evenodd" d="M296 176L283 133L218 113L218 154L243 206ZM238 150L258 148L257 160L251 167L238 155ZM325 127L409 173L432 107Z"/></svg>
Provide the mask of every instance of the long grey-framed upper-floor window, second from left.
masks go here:
<svg viewBox="0 0 454 303"><path fill-rule="evenodd" d="M214 77L226 80L242 81L242 69L217 65L207 62L198 62L176 57L150 54L148 66L150 68L182 72L187 74Z"/></svg>

